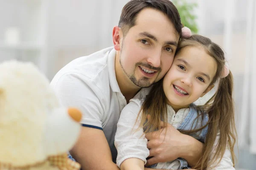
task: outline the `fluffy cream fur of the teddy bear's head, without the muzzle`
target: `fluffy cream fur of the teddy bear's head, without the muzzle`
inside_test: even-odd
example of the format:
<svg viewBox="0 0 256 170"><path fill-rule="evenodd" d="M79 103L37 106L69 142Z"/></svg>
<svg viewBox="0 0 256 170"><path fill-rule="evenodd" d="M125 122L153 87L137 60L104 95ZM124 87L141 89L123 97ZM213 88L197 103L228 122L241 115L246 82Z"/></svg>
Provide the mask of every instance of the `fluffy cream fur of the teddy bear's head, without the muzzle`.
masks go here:
<svg viewBox="0 0 256 170"><path fill-rule="evenodd" d="M24 166L45 160L44 120L58 107L49 81L32 63L1 63L0 162ZM36 170L56 170L44 166Z"/></svg>

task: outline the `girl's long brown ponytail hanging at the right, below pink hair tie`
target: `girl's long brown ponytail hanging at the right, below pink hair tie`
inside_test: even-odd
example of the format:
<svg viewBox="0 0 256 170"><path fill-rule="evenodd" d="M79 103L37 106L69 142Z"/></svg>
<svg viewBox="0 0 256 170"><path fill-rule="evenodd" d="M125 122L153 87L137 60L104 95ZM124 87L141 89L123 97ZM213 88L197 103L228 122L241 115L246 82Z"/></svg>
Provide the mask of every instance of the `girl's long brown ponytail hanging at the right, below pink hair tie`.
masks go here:
<svg viewBox="0 0 256 170"><path fill-rule="evenodd" d="M200 160L201 167L207 167L207 165L212 167L218 164L226 149L230 149L234 162L236 157L233 150L237 134L233 101L233 75L231 72L227 77L219 79L218 89L207 102L207 105L210 105L207 111L209 124L204 154ZM217 135L219 135L218 144L212 153Z"/></svg>

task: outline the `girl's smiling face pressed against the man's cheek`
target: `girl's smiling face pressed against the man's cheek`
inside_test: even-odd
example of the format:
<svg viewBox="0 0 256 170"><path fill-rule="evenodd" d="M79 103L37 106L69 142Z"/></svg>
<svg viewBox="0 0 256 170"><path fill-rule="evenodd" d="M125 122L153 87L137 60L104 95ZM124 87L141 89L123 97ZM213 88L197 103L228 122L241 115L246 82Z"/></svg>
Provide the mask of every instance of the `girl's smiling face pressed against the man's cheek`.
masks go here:
<svg viewBox="0 0 256 170"><path fill-rule="evenodd" d="M167 102L175 111L188 107L209 92L217 63L199 45L180 49L163 79Z"/></svg>

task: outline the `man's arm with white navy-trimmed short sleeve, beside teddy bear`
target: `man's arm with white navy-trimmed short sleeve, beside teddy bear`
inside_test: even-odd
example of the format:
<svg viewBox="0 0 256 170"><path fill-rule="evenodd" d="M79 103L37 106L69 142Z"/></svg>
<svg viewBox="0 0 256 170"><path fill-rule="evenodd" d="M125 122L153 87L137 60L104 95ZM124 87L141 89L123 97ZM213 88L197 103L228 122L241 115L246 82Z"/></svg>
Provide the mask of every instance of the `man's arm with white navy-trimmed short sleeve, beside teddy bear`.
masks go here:
<svg viewBox="0 0 256 170"><path fill-rule="evenodd" d="M68 73L58 79L52 87L64 106L79 108L83 113L79 139L71 155L81 164L83 170L119 170L112 161L111 150L102 130L104 97L96 85L81 74ZM97 127L97 128L92 128Z"/></svg>

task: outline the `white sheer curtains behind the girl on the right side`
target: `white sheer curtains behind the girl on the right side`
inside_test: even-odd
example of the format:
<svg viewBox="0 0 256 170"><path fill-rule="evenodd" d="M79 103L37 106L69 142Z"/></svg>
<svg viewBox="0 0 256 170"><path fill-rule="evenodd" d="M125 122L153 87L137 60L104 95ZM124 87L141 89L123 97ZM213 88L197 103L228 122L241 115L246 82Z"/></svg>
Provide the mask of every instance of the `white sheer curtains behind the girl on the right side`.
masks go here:
<svg viewBox="0 0 256 170"><path fill-rule="evenodd" d="M234 75L239 146L237 167L252 170L256 162L256 1L197 2L199 34L224 48Z"/></svg>

